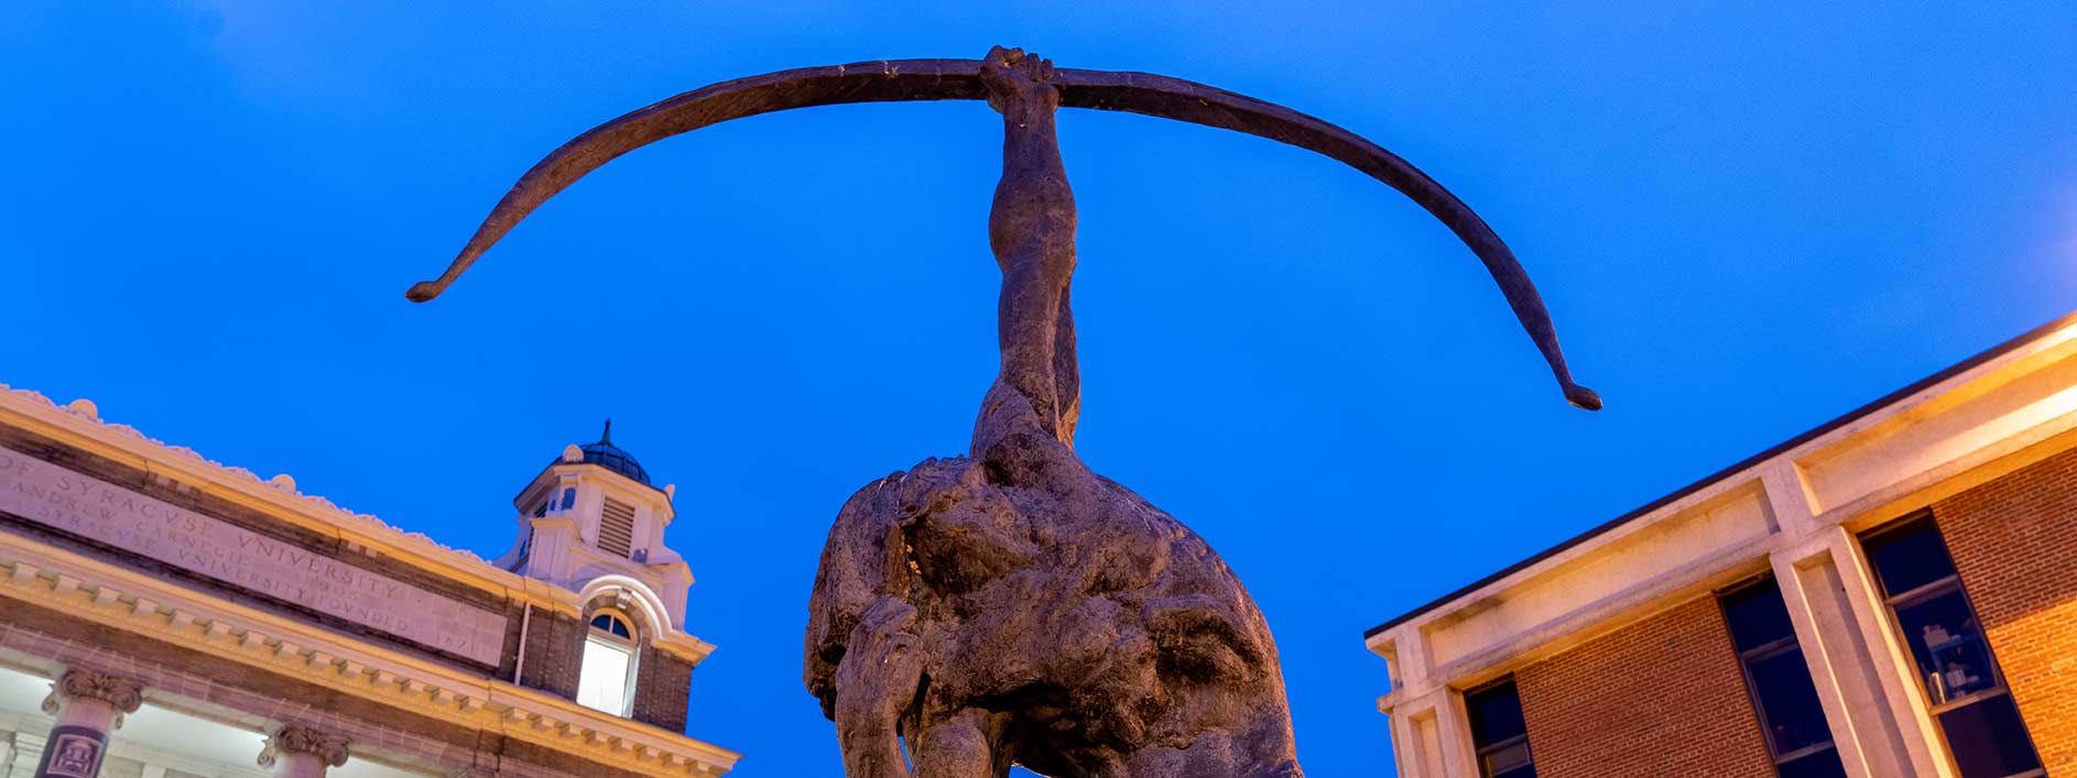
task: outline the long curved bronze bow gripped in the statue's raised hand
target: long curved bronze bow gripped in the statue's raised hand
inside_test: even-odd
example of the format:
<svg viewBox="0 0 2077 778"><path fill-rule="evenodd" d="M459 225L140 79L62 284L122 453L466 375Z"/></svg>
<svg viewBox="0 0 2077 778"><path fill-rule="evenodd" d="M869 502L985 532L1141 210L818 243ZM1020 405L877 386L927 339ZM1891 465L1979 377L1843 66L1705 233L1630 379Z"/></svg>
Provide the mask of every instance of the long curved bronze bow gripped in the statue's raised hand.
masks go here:
<svg viewBox="0 0 2077 778"><path fill-rule="evenodd" d="M1151 73L1061 68L1053 75L1053 85L1059 87L1061 106L1124 110L1261 135L1342 160L1412 197L1485 261L1485 270L1493 274L1493 282L1514 307L1514 317L1529 330L1529 338L1535 340L1564 388L1566 400L1589 411L1601 407L1601 398L1593 390L1572 382L1564 353L1558 349L1558 330L1552 326L1549 311L1543 309L1537 286L1508 251L1508 245L1464 201L1396 154L1296 110L1194 81ZM490 216L476 228L447 272L436 280L413 284L405 297L420 303L440 297L447 284L461 278L490 245L498 243L548 197L613 158L671 135L787 108L987 98L989 89L980 83L980 60L883 60L798 68L723 81L669 98L598 124L540 160L490 210Z"/></svg>

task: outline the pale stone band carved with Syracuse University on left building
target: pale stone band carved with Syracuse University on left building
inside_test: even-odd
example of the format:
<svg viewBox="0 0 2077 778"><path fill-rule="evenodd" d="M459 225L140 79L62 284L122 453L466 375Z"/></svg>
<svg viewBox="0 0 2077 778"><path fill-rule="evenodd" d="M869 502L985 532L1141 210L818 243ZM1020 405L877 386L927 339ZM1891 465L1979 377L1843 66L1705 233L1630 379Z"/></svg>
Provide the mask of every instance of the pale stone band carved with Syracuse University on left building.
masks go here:
<svg viewBox="0 0 2077 778"><path fill-rule="evenodd" d="M0 448L0 510L496 664L505 616Z"/></svg>

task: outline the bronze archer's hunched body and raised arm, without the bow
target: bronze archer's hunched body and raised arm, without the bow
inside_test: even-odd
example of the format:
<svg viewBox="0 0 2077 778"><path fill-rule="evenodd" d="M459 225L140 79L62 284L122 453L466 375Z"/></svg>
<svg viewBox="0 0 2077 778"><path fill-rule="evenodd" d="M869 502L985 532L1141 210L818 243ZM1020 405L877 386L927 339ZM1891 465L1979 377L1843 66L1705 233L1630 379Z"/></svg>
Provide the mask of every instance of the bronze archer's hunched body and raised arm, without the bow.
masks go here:
<svg viewBox="0 0 2077 778"><path fill-rule="evenodd" d="M889 475L837 515L808 600L808 689L852 776L1298 776L1246 589L1074 454L1059 93L1020 52L991 52L982 75L1003 114L1001 371L972 456Z"/></svg>

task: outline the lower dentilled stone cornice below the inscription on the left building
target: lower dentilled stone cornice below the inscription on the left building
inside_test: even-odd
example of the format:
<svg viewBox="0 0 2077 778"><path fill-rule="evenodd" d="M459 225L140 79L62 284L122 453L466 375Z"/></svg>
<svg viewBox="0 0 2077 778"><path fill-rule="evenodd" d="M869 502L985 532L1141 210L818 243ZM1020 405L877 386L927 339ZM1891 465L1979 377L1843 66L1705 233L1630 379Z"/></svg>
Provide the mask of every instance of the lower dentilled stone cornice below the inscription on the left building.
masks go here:
<svg viewBox="0 0 2077 778"><path fill-rule="evenodd" d="M741 757L8 533L0 533L0 598L640 774L719 776Z"/></svg>

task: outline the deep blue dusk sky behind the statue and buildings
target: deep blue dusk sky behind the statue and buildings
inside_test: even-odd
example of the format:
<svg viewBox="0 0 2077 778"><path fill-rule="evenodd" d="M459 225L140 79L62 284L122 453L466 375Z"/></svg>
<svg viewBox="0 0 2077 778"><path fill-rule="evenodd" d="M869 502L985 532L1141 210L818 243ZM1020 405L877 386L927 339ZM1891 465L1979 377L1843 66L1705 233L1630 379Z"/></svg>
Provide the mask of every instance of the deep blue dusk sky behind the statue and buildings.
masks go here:
<svg viewBox="0 0 2077 778"><path fill-rule="evenodd" d="M679 485L721 645L692 734L746 778L839 772L814 560L858 485L966 444L1001 137L970 102L700 131L403 301L542 154L671 93L1026 46L1340 122L1508 239L1608 411L1394 191L1061 118L1080 452L1248 583L1313 776L1390 772L1363 629L2077 307L2069 2L77 6L0 2L0 382L484 556L613 415Z"/></svg>

